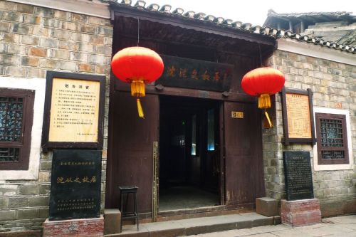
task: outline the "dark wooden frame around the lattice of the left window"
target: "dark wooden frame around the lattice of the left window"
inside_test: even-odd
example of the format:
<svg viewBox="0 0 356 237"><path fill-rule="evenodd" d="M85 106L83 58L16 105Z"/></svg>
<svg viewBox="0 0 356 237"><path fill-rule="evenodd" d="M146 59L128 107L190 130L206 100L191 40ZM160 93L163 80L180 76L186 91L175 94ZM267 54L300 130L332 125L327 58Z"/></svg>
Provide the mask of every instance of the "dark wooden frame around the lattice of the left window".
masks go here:
<svg viewBox="0 0 356 237"><path fill-rule="evenodd" d="M21 142L0 142L0 147L19 148L19 161L0 161L0 170L27 170L31 151L35 91L19 88L0 88L0 96L23 99Z"/></svg>

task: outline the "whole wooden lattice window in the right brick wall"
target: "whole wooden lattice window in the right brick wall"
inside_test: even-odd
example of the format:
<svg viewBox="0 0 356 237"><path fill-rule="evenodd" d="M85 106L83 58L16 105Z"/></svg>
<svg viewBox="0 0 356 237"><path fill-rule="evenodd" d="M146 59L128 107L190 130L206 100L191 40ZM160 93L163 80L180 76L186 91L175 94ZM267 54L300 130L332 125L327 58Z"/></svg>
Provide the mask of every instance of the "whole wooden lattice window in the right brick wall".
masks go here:
<svg viewBox="0 0 356 237"><path fill-rule="evenodd" d="M348 164L346 116L315 113L318 164Z"/></svg>

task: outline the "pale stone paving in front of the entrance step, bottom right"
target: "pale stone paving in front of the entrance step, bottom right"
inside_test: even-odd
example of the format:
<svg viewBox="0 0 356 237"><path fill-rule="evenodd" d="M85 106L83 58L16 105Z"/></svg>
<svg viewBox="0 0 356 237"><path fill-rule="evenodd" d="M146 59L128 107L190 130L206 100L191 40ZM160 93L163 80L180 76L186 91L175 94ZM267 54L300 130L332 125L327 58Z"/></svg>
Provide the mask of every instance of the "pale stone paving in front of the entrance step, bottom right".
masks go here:
<svg viewBox="0 0 356 237"><path fill-rule="evenodd" d="M195 235L199 237L356 237L356 215L323 218L322 223L292 228L283 224ZM192 237L192 236L191 236Z"/></svg>

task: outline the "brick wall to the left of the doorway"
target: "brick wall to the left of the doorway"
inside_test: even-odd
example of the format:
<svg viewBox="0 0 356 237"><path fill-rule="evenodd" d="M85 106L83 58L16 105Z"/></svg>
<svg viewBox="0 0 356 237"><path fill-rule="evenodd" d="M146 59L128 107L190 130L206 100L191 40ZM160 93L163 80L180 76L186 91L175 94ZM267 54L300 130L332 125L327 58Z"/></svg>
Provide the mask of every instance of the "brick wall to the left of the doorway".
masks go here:
<svg viewBox="0 0 356 237"><path fill-rule="evenodd" d="M102 209L111 54L109 19L0 1L0 87L9 78L14 84L16 78L19 82L44 82L47 70L106 75ZM41 90L36 95L44 93L45 88ZM43 107L35 108L35 112L37 109ZM40 132L32 134L35 136L41 137L41 127ZM0 232L41 229L48 217L52 154L41 152L38 156L36 179L11 179L10 175L0 180Z"/></svg>

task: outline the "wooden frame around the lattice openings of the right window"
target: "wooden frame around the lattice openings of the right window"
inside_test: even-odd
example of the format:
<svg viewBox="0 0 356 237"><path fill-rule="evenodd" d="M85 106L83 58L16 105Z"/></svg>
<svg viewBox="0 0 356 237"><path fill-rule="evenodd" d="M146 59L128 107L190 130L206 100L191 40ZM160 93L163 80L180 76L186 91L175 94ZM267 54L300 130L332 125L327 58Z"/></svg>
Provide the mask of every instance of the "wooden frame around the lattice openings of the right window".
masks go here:
<svg viewBox="0 0 356 237"><path fill-rule="evenodd" d="M340 147L328 147L325 149L321 146L321 131L320 131L320 120L339 120L341 121L342 125L342 149ZM348 140L347 140L347 122L346 122L346 115L342 114L333 114L333 113L324 113L324 112L315 112L315 130L317 133L317 151L318 151L318 165L325 165L325 164L349 164L349 147L348 147ZM344 159L322 159L321 152L324 150L330 151L343 151L345 154Z"/></svg>

